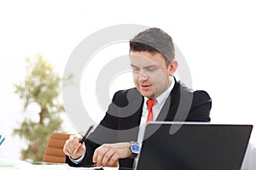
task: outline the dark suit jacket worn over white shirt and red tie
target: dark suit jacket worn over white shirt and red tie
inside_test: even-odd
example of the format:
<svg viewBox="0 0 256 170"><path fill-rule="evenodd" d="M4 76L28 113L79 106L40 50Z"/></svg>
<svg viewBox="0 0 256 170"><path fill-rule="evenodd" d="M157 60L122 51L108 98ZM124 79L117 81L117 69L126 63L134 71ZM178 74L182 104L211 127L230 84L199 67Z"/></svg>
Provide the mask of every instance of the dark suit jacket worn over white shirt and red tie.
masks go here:
<svg viewBox="0 0 256 170"><path fill-rule="evenodd" d="M207 92L192 91L181 82L175 82L156 121L210 122L211 108L212 99ZM136 88L114 94L113 101L102 122L85 141L84 160L77 165L67 157L67 163L73 167L90 165L93 164L94 150L101 144L137 141L142 111L143 96ZM119 160L119 167L132 167L132 165L132 158Z"/></svg>

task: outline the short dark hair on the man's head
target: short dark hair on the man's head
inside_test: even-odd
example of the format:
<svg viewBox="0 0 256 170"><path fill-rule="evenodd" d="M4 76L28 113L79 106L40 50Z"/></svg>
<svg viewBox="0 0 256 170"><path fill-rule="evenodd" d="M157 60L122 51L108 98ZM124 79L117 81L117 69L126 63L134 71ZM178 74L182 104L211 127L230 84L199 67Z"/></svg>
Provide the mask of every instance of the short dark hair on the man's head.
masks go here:
<svg viewBox="0 0 256 170"><path fill-rule="evenodd" d="M167 63L175 59L172 37L160 28L149 28L130 40L130 51L148 51L163 54Z"/></svg>

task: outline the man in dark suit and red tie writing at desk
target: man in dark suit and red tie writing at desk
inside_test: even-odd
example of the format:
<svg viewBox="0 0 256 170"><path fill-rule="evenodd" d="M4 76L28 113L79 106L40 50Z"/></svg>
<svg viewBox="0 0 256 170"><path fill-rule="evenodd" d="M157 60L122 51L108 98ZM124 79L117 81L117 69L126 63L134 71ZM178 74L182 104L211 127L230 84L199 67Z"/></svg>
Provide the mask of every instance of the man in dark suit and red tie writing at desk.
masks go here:
<svg viewBox="0 0 256 170"><path fill-rule="evenodd" d="M119 161L119 167L132 167L139 151L133 145L142 143L146 122L210 122L207 92L192 91L173 77L177 61L172 37L149 28L130 41L130 55L136 88L114 94L102 122L75 154L82 137L67 139L63 151L70 166L116 166Z"/></svg>

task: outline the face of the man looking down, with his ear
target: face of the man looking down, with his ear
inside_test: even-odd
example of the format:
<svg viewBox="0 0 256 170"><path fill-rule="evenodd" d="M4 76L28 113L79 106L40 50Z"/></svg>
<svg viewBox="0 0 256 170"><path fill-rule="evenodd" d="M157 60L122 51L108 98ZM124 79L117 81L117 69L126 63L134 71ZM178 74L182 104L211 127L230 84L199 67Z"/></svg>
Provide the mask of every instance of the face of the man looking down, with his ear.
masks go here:
<svg viewBox="0 0 256 170"><path fill-rule="evenodd" d="M177 62L166 65L160 53L131 51L131 69L137 90L148 99L155 99L171 85L170 77L177 68Z"/></svg>

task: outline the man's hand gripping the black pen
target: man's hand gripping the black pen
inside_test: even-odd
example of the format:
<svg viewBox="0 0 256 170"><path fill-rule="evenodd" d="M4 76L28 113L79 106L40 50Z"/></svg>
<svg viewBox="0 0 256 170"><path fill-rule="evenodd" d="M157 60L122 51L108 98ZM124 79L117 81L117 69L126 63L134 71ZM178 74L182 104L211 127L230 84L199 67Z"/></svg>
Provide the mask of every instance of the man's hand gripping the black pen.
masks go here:
<svg viewBox="0 0 256 170"><path fill-rule="evenodd" d="M67 155L73 158L74 160L79 159L79 157L83 156L85 154L85 144L83 143L80 147L80 149L73 154L74 150L79 148L79 141L83 137L79 134L76 135L70 135L69 139L66 140L66 143L63 147L63 152Z"/></svg>

